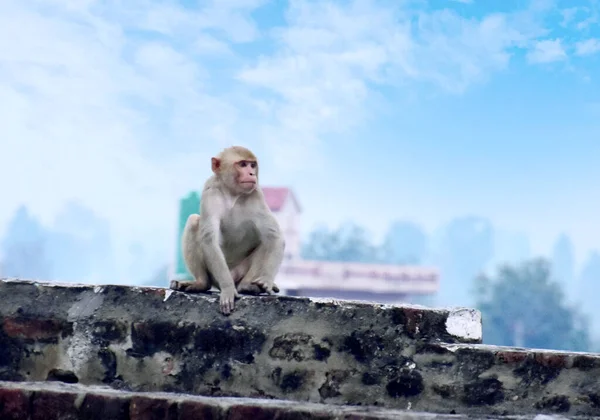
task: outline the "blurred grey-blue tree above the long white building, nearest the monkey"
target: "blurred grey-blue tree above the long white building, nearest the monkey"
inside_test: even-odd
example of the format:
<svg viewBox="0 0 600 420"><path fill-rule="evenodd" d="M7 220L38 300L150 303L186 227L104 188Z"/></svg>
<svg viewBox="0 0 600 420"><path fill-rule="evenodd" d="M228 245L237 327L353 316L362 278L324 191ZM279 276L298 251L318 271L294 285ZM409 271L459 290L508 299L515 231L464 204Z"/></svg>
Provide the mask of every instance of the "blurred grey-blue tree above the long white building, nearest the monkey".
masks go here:
<svg viewBox="0 0 600 420"><path fill-rule="evenodd" d="M321 261L379 262L379 249L360 226L346 223L335 231L321 227L302 246L302 258Z"/></svg>

